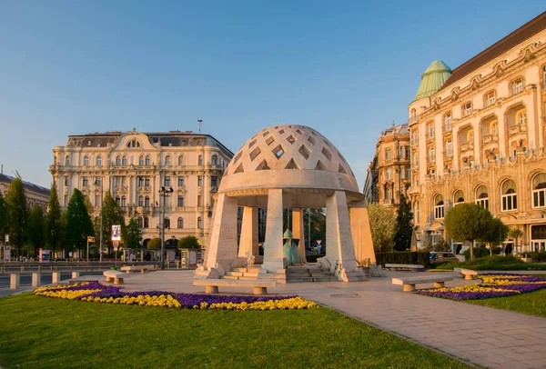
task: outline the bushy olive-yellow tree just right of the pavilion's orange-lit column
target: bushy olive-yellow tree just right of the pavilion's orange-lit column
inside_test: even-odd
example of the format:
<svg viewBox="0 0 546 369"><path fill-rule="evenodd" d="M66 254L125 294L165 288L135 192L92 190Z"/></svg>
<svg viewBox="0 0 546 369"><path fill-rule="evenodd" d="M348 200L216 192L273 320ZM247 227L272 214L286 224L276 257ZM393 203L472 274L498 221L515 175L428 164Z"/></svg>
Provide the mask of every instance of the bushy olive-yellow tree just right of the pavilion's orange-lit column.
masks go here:
<svg viewBox="0 0 546 369"><path fill-rule="evenodd" d="M368 204L369 228L376 251L392 251L396 217L392 210L381 204Z"/></svg>

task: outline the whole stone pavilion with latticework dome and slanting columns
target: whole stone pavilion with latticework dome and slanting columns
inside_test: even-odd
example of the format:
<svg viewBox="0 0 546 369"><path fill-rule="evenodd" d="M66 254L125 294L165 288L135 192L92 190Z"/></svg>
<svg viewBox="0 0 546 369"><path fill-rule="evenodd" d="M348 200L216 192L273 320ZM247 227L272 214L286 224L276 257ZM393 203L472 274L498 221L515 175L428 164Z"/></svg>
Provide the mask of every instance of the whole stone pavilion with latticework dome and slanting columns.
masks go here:
<svg viewBox="0 0 546 369"><path fill-rule="evenodd" d="M244 212L238 244L239 206ZM227 166L217 193L207 255L196 278L221 278L233 267L252 264L258 255L258 208L267 208L265 250L258 278L286 281L283 209L292 210L293 236L302 245L302 209L324 206L327 252L319 264L345 282L365 279L358 261L369 258L375 263L368 213L364 195L343 155L307 126L263 129ZM299 253L305 257L303 249Z"/></svg>

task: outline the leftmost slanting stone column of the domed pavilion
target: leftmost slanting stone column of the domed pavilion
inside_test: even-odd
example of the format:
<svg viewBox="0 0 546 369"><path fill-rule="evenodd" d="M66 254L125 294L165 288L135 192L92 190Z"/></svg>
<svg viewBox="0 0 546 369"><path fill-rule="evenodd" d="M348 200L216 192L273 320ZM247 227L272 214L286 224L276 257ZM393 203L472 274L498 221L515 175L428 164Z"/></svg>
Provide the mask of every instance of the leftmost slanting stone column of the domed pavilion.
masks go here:
<svg viewBox="0 0 546 369"><path fill-rule="evenodd" d="M237 198L218 194L217 209L214 214L210 244L207 247L205 267L217 268L223 275L237 259Z"/></svg>

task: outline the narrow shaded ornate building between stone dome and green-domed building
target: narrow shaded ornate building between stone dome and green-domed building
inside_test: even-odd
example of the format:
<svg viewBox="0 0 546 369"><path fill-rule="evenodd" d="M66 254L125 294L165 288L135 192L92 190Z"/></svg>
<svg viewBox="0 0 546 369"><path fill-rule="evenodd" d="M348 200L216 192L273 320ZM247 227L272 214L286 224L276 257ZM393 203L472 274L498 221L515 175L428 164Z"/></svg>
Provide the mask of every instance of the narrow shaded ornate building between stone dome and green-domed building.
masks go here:
<svg viewBox="0 0 546 369"><path fill-rule="evenodd" d="M397 208L400 193L406 194L410 178L410 131L408 125L393 124L381 132L362 192L368 203Z"/></svg>

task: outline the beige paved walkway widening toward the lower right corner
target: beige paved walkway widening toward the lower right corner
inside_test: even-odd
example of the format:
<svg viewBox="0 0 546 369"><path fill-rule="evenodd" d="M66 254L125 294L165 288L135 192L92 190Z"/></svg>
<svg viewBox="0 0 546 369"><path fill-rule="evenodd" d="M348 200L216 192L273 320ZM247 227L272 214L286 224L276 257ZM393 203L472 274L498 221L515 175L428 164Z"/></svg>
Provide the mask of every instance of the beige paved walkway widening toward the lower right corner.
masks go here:
<svg viewBox="0 0 546 369"><path fill-rule="evenodd" d="M269 292L299 294L468 363L491 368L546 368L545 318L403 293L401 286L391 284L390 277L417 274L388 275L389 278L350 284L278 284ZM193 271L131 274L125 287L128 291L203 293L204 287L192 285L192 277ZM472 282L456 279L446 286L469 283ZM251 288L220 287L220 292L248 294Z"/></svg>

